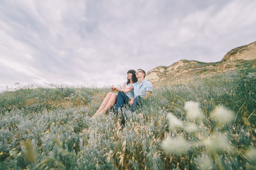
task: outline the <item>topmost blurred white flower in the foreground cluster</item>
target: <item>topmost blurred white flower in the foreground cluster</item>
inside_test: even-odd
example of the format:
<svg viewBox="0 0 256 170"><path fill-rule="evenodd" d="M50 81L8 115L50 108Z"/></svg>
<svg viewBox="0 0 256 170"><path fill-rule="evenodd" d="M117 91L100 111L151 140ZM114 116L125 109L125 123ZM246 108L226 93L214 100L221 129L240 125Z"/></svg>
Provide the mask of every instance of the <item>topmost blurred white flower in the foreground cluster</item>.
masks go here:
<svg viewBox="0 0 256 170"><path fill-rule="evenodd" d="M195 119L195 120L202 120L203 113L199 107L199 103L194 101L187 101L185 103L185 110L187 111L187 118Z"/></svg>

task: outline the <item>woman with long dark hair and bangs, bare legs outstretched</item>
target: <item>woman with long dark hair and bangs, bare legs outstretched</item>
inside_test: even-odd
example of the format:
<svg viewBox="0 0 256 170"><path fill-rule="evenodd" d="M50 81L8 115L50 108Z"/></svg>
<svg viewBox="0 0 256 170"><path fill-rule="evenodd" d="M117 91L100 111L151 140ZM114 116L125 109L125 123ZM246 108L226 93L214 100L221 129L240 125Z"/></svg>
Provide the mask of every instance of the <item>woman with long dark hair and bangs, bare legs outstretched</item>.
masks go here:
<svg viewBox="0 0 256 170"><path fill-rule="evenodd" d="M131 85L133 85L133 83L136 83L138 81L135 73L136 73L135 70L127 71L127 82L123 83L123 89L130 88L132 90ZM134 98L133 92L126 93L126 95L129 98ZM112 107L112 105L115 104L116 98L117 98L116 93L109 92L106 95L105 99L103 100L102 104L100 105L100 108L98 109L98 111L92 117L97 117L100 114L105 114Z"/></svg>

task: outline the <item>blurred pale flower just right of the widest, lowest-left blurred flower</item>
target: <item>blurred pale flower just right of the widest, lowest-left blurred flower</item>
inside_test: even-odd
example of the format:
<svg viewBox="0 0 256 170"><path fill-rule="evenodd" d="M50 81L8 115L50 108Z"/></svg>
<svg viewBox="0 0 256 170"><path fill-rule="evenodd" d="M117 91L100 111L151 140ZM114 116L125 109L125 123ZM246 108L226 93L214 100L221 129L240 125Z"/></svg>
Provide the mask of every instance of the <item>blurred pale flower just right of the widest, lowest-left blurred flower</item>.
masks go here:
<svg viewBox="0 0 256 170"><path fill-rule="evenodd" d="M229 144L224 135L213 135L210 139L203 141L211 150L227 150Z"/></svg>

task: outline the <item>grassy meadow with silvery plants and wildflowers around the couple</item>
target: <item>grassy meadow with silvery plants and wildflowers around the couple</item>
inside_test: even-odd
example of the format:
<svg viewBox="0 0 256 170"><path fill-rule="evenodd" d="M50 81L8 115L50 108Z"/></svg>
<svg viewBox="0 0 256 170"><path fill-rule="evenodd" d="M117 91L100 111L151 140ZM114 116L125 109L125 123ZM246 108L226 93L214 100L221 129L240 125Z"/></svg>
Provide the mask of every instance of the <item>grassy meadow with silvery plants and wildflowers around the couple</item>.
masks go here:
<svg viewBox="0 0 256 170"><path fill-rule="evenodd" d="M108 88L0 94L1 169L255 169L255 69L163 84L136 112L91 118ZM191 102L193 101L193 102Z"/></svg>

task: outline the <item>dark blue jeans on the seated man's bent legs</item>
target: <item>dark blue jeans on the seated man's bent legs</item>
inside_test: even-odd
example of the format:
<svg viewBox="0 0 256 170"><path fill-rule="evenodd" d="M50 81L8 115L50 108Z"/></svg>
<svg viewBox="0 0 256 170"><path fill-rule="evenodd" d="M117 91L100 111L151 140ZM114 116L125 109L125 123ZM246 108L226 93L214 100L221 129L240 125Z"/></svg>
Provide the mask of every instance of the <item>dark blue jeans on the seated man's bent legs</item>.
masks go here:
<svg viewBox="0 0 256 170"><path fill-rule="evenodd" d="M133 104L131 105L130 111L133 112L140 104L141 104L141 96L138 95L134 101ZM129 102L129 97L124 93L124 92L119 92L117 94L117 99L116 99L116 105L115 105L115 111L118 113L118 108L120 108L122 112L122 108L124 104L128 104ZM125 114L126 117L126 114Z"/></svg>

